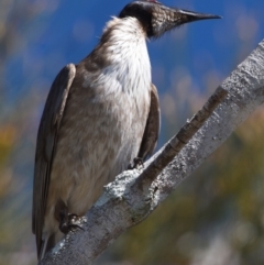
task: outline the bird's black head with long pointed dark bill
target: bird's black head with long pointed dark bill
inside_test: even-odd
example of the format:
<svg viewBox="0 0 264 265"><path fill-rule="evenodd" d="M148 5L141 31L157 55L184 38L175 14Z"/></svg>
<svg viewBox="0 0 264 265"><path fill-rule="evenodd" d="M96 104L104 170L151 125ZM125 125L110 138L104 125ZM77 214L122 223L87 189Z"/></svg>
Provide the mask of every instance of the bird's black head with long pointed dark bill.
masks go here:
<svg viewBox="0 0 264 265"><path fill-rule="evenodd" d="M220 19L219 15L196 13L187 10L168 8L155 0L134 1L124 7L119 18L136 18L146 32L147 37L158 37L184 23Z"/></svg>

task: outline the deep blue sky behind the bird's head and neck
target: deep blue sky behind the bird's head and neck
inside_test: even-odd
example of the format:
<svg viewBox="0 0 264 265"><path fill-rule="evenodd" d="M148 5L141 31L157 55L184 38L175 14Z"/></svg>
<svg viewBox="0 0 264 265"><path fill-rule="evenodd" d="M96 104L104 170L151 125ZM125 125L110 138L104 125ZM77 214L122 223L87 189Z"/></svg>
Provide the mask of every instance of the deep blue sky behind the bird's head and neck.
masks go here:
<svg viewBox="0 0 264 265"><path fill-rule="evenodd" d="M12 97L21 89L35 87L35 82L40 84L36 89L48 90L58 70L85 57L98 42L106 22L128 3L123 0L32 2L38 13L28 23L21 22L24 45L10 56L8 64L7 85L12 85ZM162 79L153 77L161 91L172 86L169 76L177 67L188 69L202 90L201 78L208 69L216 69L223 78L264 35L264 1L166 0L163 3L220 14L223 19L186 24L148 43L153 70L164 69Z"/></svg>

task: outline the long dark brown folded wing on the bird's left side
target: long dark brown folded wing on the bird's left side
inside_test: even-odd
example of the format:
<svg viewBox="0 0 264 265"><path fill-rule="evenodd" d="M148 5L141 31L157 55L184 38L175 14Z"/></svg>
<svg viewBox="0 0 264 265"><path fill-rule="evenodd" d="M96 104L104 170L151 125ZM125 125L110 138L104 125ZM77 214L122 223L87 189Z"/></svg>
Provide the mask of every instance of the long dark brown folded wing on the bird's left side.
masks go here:
<svg viewBox="0 0 264 265"><path fill-rule="evenodd" d="M36 236L37 255L42 246L42 230L57 133L75 74L75 65L69 64L55 78L37 132L32 210L32 231Z"/></svg>

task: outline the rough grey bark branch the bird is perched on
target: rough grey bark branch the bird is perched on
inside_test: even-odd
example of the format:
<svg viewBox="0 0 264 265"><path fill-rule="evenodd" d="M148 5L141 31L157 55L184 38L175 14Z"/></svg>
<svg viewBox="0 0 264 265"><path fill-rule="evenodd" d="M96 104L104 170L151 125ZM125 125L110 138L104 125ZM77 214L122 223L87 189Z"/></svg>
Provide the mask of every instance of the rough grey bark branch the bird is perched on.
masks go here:
<svg viewBox="0 0 264 265"><path fill-rule="evenodd" d="M187 122L187 131L172 139L145 164L144 169L119 175L105 188L103 195L81 220L84 230L68 233L40 264L92 264L109 244L128 228L144 220L221 145L264 102L264 41L216 92L222 89L228 96L197 133L189 126L191 121ZM188 135L194 133L189 140ZM166 153L168 146L173 155ZM152 174L145 174L144 170Z"/></svg>

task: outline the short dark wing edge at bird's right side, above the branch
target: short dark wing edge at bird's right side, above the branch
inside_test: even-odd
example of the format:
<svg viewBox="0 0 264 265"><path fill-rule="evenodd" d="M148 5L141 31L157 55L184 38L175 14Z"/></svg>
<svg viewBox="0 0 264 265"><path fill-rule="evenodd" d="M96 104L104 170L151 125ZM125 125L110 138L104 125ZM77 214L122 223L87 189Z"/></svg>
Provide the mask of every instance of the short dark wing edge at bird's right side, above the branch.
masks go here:
<svg viewBox="0 0 264 265"><path fill-rule="evenodd" d="M139 157L145 159L156 147L161 126L161 111L156 87L151 85L151 108L141 143Z"/></svg>

